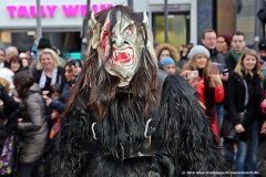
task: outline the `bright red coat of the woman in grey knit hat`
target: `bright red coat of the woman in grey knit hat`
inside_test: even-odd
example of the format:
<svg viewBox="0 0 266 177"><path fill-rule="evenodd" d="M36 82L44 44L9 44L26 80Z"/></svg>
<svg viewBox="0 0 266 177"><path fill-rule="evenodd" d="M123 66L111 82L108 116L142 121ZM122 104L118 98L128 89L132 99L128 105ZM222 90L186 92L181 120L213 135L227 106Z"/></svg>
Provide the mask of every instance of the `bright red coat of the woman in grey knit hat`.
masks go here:
<svg viewBox="0 0 266 177"><path fill-rule="evenodd" d="M202 83L197 84L195 86L196 92L198 93L198 100L204 104L204 80L202 79ZM224 86L215 86L214 87L214 98L215 103L221 103L224 100ZM218 136L218 121L217 121L217 114L215 114L214 123L212 124L213 132L215 135Z"/></svg>

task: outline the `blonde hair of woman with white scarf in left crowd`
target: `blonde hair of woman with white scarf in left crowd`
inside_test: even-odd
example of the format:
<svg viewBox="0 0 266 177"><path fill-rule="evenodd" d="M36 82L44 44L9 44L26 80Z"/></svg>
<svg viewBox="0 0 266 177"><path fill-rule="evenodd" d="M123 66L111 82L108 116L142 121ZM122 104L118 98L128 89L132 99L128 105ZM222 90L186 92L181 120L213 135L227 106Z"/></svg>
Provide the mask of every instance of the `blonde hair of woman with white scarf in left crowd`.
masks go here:
<svg viewBox="0 0 266 177"><path fill-rule="evenodd" d="M62 65L61 61L59 60L58 54L57 54L53 50L51 50L51 49L44 49L44 50L42 50L40 53L38 53L38 56L37 56L37 62L38 62L38 64L37 64L37 70L42 70L42 69L43 69L43 66L42 66L42 64L41 64L41 56L42 56L42 54L48 54L48 53L51 54L51 56L52 56L53 67L57 67L57 66L59 66L59 65Z"/></svg>

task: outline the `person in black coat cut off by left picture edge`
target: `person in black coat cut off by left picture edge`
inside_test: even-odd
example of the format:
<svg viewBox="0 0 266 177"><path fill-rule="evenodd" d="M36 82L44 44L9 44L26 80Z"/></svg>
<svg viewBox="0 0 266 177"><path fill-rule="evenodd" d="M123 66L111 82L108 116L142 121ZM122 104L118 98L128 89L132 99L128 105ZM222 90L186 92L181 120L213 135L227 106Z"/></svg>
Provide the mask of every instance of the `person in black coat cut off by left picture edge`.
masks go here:
<svg viewBox="0 0 266 177"><path fill-rule="evenodd" d="M1 100L1 108L0 108L0 153L2 152L3 144L6 140L6 129L4 129L4 121L13 111L13 98L9 96L8 92L4 90L2 84L0 83L0 100Z"/></svg>

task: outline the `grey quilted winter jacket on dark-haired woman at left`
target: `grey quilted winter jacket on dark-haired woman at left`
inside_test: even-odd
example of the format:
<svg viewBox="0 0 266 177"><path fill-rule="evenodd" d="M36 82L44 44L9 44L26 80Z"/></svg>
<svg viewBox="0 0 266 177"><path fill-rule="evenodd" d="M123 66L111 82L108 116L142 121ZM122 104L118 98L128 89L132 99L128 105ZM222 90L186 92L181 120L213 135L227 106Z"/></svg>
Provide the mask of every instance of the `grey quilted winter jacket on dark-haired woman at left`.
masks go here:
<svg viewBox="0 0 266 177"><path fill-rule="evenodd" d="M23 121L18 131L23 135L20 162L34 163L44 152L49 138L44 102L38 84L33 84L21 97L19 112Z"/></svg>

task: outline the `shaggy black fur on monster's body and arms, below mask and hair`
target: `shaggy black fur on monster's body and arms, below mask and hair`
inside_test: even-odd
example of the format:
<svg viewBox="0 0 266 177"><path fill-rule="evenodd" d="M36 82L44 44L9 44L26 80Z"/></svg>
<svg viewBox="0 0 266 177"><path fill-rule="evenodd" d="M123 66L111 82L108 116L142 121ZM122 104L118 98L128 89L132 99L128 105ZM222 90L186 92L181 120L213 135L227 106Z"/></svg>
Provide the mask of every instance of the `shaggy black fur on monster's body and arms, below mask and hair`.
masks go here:
<svg viewBox="0 0 266 177"><path fill-rule="evenodd" d="M81 91L71 111L62 118L62 127L49 150L49 177L177 177L184 171L225 171L223 149L203 114L195 91L178 75L165 80L160 110L144 116L144 103L130 90L119 91L103 119L95 110L83 104L89 88ZM155 106L156 107L156 106ZM157 110L157 111L156 111ZM143 146L145 123L157 116L157 139L164 149L151 157L116 159L119 144L125 154ZM92 138L95 122L98 140ZM194 176L212 176L195 174ZM213 175L218 176L218 175Z"/></svg>

